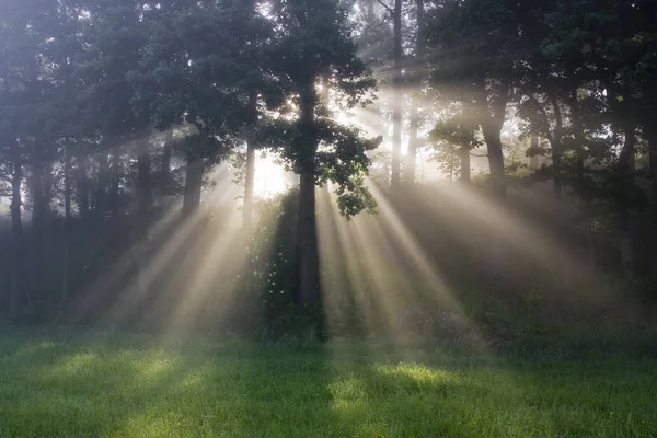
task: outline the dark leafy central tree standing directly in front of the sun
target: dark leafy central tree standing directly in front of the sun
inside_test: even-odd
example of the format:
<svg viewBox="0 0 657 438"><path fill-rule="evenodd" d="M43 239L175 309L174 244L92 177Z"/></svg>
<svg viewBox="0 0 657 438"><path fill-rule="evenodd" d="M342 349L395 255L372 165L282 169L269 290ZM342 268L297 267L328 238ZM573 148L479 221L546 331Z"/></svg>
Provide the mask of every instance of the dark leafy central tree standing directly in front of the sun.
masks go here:
<svg viewBox="0 0 657 438"><path fill-rule="evenodd" d="M353 216L373 207L364 185L368 150L380 139L365 140L355 129L341 127L319 111L319 81L324 78L348 105L361 102L374 82L356 56L347 11L334 0L278 0L275 20L280 35L272 54L277 72L289 84L299 107L283 154L300 175L299 302L319 298L315 185L337 184L341 209Z"/></svg>

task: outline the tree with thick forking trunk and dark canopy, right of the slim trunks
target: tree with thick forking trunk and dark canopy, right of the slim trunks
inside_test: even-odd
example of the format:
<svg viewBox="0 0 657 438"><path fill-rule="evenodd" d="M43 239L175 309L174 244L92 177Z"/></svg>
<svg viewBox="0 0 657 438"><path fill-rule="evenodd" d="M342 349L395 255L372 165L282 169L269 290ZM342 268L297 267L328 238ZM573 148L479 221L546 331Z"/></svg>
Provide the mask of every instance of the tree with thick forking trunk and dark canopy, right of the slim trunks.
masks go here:
<svg viewBox="0 0 657 438"><path fill-rule="evenodd" d="M434 47L431 81L443 90L458 90L460 102L472 105L498 198L506 194L502 128L523 48L520 18L518 4L506 0L447 1L427 18L426 37Z"/></svg>

